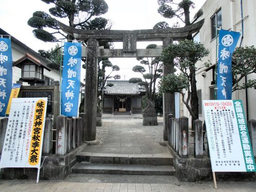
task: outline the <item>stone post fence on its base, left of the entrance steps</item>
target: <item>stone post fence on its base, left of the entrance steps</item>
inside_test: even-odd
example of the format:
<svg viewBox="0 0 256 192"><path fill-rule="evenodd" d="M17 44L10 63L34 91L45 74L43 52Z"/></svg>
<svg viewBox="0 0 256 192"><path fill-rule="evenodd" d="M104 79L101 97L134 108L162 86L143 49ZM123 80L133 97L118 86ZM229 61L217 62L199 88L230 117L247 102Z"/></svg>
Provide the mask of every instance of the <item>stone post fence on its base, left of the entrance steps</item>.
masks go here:
<svg viewBox="0 0 256 192"><path fill-rule="evenodd" d="M57 117L56 129L53 129L53 119L46 118L40 179L63 180L71 173L71 167L76 163L76 154L86 147L86 130L84 128L85 114L79 117ZM4 144L8 118L0 120L0 156ZM56 138L53 138L56 132ZM55 135L55 134L54 134ZM53 146L55 145L55 146ZM53 154L53 148L56 152ZM44 163L43 163L44 162ZM3 179L36 179L35 168L3 168L0 178Z"/></svg>

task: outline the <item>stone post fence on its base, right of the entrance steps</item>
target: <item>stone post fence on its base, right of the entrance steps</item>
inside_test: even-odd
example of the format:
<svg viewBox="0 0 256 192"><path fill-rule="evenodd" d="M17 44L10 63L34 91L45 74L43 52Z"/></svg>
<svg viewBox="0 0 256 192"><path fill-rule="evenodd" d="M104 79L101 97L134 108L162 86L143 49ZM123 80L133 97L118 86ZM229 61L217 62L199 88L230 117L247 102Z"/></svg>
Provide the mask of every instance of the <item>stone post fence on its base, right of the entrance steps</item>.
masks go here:
<svg viewBox="0 0 256 192"><path fill-rule="evenodd" d="M256 120L247 123L254 158L256 158ZM188 118L168 115L168 150L173 155L173 165L180 181L211 179L211 164L206 139L205 125L194 121L194 131L188 129ZM224 174L224 173L222 173ZM222 178L220 176L219 178Z"/></svg>

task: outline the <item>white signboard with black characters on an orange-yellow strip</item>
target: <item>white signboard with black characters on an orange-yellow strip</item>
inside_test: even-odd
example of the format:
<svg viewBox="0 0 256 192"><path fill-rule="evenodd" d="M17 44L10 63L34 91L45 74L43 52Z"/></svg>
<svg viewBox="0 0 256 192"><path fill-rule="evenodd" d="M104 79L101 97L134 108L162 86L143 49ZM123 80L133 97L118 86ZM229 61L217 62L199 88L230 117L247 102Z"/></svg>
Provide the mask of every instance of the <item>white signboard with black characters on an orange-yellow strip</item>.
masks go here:
<svg viewBox="0 0 256 192"><path fill-rule="evenodd" d="M41 163L47 98L13 98L0 168Z"/></svg>

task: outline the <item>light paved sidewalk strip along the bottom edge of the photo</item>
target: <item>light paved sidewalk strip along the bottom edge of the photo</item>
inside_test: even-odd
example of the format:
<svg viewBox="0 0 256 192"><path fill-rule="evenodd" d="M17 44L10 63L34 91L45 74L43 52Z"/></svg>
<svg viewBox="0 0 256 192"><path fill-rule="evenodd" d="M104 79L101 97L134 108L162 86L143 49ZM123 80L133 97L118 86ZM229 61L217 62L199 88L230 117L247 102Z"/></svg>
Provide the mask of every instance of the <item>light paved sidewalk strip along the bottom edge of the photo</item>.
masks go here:
<svg viewBox="0 0 256 192"><path fill-rule="evenodd" d="M48 191L48 192L196 192L196 191L256 191L256 182L225 182L218 183L214 189L211 182L204 183L175 183L175 184L149 184L149 183L84 183L61 181L0 181L0 191Z"/></svg>

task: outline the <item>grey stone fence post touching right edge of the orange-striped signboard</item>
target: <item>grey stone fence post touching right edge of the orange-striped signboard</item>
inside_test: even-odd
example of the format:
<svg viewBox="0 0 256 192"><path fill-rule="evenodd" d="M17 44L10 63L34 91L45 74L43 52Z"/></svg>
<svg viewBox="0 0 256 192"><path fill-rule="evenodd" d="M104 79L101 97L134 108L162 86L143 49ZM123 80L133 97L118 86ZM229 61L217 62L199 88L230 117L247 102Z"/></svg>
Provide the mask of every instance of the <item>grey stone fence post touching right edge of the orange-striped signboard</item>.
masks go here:
<svg viewBox="0 0 256 192"><path fill-rule="evenodd" d="M42 156L49 156L52 154L52 122L51 118L46 118L44 142L42 143Z"/></svg>

